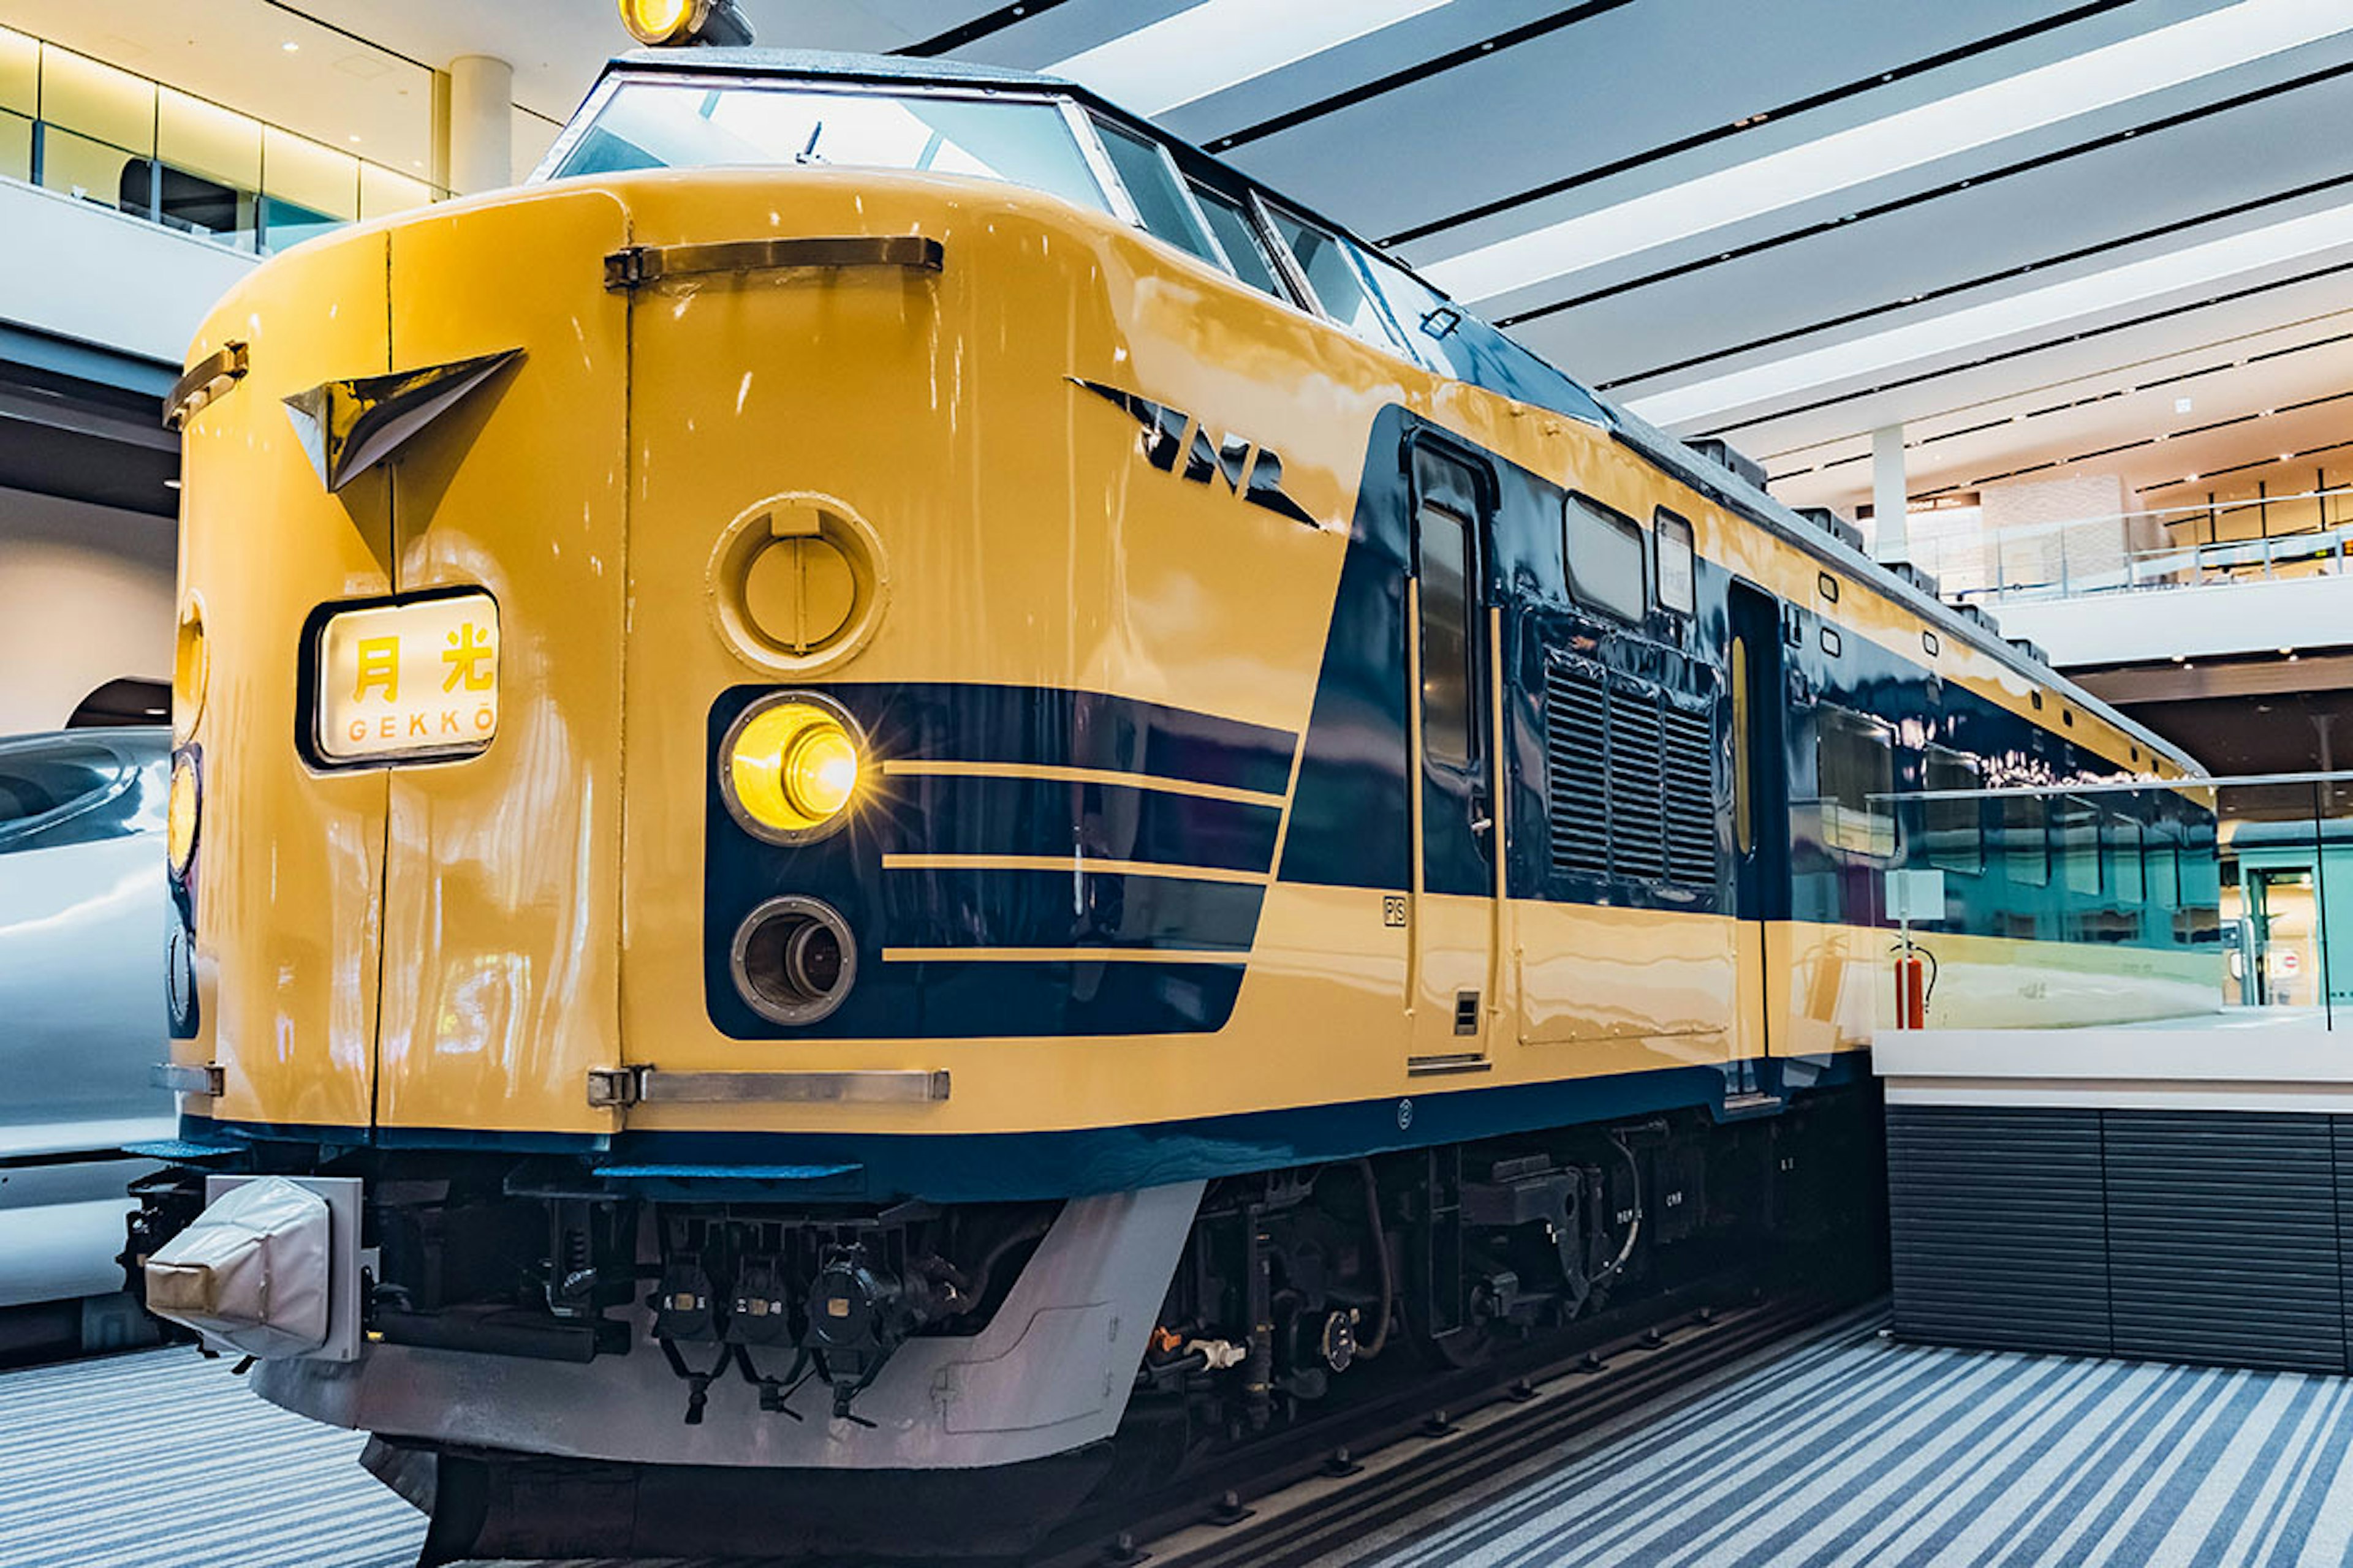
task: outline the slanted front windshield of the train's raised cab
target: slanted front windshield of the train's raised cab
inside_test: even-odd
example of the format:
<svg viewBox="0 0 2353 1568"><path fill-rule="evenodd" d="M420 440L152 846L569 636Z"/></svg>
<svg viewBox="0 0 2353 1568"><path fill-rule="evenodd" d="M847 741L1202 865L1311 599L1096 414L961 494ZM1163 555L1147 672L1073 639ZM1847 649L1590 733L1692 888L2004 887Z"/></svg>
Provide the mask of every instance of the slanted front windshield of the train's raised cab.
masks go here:
<svg viewBox="0 0 2353 1568"><path fill-rule="evenodd" d="M1111 212L1071 122L1035 99L624 82L555 176L722 165L974 174Z"/></svg>

